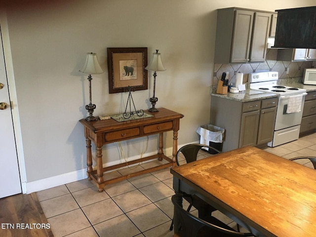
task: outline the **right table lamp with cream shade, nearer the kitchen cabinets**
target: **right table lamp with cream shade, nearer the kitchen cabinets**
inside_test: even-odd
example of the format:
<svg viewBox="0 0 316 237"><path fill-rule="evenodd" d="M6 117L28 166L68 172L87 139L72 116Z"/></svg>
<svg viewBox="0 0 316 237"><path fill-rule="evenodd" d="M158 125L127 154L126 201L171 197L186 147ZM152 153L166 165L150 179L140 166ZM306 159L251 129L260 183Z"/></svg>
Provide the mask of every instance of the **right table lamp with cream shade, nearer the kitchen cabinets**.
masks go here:
<svg viewBox="0 0 316 237"><path fill-rule="evenodd" d="M150 108L149 111L150 112L158 112L158 109L155 108L156 103L158 101L158 98L155 96L157 71L166 71L166 69L163 67L163 64L161 61L161 54L158 53L158 49L156 49L156 53L153 53L153 58L150 61L149 65L145 69L154 71L154 74L153 74L153 76L154 76L154 93L153 93L153 97L149 99L149 101L152 103L152 108Z"/></svg>

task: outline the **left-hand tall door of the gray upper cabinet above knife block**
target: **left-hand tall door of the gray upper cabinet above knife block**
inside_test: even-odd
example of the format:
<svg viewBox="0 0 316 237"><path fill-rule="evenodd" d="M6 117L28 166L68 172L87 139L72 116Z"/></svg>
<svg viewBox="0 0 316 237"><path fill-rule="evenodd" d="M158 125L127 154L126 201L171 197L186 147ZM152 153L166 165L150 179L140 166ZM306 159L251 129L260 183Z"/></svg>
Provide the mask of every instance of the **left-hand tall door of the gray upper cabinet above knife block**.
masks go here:
<svg viewBox="0 0 316 237"><path fill-rule="evenodd" d="M246 63L249 61L253 16L253 11L235 11L232 63Z"/></svg>

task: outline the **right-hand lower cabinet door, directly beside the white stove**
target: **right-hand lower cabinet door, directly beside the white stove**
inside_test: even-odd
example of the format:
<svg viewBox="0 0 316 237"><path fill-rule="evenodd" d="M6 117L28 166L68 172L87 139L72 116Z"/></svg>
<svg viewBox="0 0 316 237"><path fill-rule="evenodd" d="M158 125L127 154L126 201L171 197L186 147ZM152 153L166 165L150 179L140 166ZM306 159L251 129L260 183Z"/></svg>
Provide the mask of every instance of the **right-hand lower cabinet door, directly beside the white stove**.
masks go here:
<svg viewBox="0 0 316 237"><path fill-rule="evenodd" d="M276 121L276 107L261 110L257 145L271 142Z"/></svg>

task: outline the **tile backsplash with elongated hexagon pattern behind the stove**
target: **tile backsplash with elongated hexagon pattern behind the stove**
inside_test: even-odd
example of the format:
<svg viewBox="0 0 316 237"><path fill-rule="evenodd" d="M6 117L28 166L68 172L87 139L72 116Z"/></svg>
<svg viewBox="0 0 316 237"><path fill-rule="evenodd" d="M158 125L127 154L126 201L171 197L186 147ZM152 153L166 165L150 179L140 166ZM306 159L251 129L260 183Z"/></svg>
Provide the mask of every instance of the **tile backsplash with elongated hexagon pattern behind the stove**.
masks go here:
<svg viewBox="0 0 316 237"><path fill-rule="evenodd" d="M276 61L277 50L267 50L266 61L262 63L231 63L231 64L214 64L213 89L217 87L218 81L224 72L229 72L229 82L235 86L236 74L243 73L243 83L248 81L248 73L259 71L276 71L279 79L302 80L305 68L315 68L316 61L306 62L288 62ZM286 74L288 71L288 74Z"/></svg>

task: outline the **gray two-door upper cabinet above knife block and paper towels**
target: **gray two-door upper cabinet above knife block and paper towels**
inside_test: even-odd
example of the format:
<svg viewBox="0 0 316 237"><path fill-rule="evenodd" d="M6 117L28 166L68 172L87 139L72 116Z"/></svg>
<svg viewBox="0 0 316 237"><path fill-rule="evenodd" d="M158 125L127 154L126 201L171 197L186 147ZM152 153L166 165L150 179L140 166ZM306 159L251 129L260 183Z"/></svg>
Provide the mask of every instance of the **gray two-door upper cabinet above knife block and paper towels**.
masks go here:
<svg viewBox="0 0 316 237"><path fill-rule="evenodd" d="M215 63L265 61L273 12L244 8L217 10Z"/></svg>

